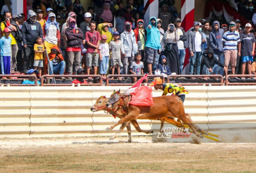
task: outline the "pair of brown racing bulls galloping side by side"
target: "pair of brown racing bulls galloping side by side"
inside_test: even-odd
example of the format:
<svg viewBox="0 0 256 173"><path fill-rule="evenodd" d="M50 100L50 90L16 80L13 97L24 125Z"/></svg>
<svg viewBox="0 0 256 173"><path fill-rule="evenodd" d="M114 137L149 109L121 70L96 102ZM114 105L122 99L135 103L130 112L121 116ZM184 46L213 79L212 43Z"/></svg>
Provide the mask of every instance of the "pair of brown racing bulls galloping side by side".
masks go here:
<svg viewBox="0 0 256 173"><path fill-rule="evenodd" d="M120 118L116 124L106 128L107 131L111 131L117 125L122 124L119 131L112 136L110 140L115 139L117 135L126 127L129 134L128 142L131 142L130 122L134 125L138 132L143 132L146 134L153 133L153 131L142 130L137 122L137 119L149 119L161 121L160 132L164 122L166 121L179 127L187 127L190 129L190 132L194 133L198 137L202 138L204 136L206 138L218 141L218 139L207 136L212 135L218 137L217 135L202 131L200 127L191 120L190 116L185 113L183 102L178 96L165 95L161 97L153 97L153 105L142 106L129 104L131 101L131 95L122 94L119 91L114 91L111 98L106 98L105 96L99 97L93 107L91 107L91 111L93 112L107 111L113 116ZM174 118L178 118L179 122L175 121Z"/></svg>

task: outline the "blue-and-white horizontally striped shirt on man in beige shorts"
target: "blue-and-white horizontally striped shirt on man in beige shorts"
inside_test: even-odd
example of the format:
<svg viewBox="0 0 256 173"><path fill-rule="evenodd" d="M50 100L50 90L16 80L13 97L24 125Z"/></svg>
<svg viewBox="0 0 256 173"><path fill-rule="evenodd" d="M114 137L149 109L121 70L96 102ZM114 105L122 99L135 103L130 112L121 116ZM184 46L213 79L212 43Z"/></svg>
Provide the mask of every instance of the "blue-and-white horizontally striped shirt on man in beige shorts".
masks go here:
<svg viewBox="0 0 256 173"><path fill-rule="evenodd" d="M222 37L222 41L225 42L224 52L226 50L237 50L238 42L240 42L240 35L237 31L227 31Z"/></svg>

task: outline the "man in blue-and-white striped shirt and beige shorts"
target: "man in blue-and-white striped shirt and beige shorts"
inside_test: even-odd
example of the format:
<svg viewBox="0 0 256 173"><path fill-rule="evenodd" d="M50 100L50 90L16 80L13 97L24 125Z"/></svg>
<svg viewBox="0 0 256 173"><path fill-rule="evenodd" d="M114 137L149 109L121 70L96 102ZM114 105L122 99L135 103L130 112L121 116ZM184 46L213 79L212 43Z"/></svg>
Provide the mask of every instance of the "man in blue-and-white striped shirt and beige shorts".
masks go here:
<svg viewBox="0 0 256 173"><path fill-rule="evenodd" d="M236 30L236 23L231 21L229 23L229 31L225 32L222 41L224 45L224 71L227 76L228 64L231 62L232 74L234 74L237 65L238 47L241 47L240 35ZM240 55L239 55L240 56Z"/></svg>

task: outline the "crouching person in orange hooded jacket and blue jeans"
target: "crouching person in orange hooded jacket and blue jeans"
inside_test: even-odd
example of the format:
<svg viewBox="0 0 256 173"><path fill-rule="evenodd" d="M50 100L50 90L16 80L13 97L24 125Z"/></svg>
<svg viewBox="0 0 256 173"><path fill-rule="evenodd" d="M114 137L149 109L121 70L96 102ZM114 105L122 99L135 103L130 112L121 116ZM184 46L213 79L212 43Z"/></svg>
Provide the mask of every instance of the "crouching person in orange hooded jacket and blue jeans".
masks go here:
<svg viewBox="0 0 256 173"><path fill-rule="evenodd" d="M50 60L50 66L52 69L51 70L49 68L50 75L52 74L63 75L63 73L65 72L66 62L64 61L63 56L59 52L59 48L57 46L54 46L51 49L51 53L49 53L48 56ZM45 73L47 72L47 65L48 65L48 59L46 59L46 62L45 62L45 68L44 68Z"/></svg>

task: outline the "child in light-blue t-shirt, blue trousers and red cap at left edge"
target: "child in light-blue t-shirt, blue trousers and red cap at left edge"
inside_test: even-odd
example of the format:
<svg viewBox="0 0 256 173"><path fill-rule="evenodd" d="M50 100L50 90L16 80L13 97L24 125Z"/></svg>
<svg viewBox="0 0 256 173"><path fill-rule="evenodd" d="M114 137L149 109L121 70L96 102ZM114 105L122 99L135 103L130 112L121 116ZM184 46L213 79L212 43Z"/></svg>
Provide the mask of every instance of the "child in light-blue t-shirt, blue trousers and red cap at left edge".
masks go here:
<svg viewBox="0 0 256 173"><path fill-rule="evenodd" d="M9 36L11 30L9 28L4 29L5 36L0 39L0 51L1 51L1 72L2 74L9 75L11 73L11 41ZM3 77L3 79L7 79Z"/></svg>

